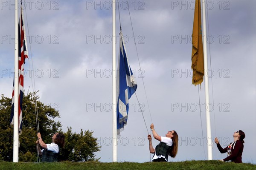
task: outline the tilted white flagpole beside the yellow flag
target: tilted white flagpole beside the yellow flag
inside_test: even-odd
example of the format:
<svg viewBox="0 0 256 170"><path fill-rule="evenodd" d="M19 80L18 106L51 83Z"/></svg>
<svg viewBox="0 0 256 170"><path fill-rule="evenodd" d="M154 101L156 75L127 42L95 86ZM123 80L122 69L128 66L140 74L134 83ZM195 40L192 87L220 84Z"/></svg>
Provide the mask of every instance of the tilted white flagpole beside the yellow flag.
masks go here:
<svg viewBox="0 0 256 170"><path fill-rule="evenodd" d="M207 129L207 150L208 160L212 160L212 134L210 120L210 105L209 105L209 82L208 82L208 62L207 62L207 41L206 41L206 17L205 17L205 1L202 0L203 13L203 45L204 45L204 92L205 92L205 108L206 108L206 129Z"/></svg>

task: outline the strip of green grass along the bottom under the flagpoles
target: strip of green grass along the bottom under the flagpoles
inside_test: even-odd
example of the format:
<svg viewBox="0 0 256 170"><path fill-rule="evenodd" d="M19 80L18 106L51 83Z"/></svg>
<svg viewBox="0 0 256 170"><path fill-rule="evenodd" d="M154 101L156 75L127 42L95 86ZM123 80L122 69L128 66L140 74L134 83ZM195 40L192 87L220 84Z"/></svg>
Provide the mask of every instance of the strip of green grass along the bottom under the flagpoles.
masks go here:
<svg viewBox="0 0 256 170"><path fill-rule="evenodd" d="M5 162L0 161L0 170L256 170L255 164L235 164L221 161L182 162Z"/></svg>

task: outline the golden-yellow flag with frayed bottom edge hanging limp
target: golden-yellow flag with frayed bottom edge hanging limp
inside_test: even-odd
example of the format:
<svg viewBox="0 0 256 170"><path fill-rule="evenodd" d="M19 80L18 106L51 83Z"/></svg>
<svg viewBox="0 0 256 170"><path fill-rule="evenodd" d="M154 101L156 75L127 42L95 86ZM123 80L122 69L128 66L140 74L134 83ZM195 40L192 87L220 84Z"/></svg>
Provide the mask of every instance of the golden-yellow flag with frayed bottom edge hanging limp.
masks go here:
<svg viewBox="0 0 256 170"><path fill-rule="evenodd" d="M204 80L204 52L202 40L202 24L201 24L201 2L195 0L195 14L192 32L192 66L193 69L193 85L200 85Z"/></svg>

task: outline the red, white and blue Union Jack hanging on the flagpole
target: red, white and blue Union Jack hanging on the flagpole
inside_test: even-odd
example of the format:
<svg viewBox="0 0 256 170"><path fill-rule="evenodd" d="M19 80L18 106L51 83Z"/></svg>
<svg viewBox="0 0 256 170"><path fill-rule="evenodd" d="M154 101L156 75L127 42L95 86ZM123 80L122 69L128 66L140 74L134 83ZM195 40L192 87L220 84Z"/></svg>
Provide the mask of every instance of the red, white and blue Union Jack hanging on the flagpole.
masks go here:
<svg viewBox="0 0 256 170"><path fill-rule="evenodd" d="M22 130L22 100L23 100L23 74L24 74L24 64L25 59L28 58L28 52L26 50L26 34L25 34L25 26L23 24L23 11L21 7L20 12L20 20L19 20L19 35L18 35L18 43L19 43L19 100L18 100L18 114L19 114L19 134L21 134ZM11 125L14 123L13 119L14 115L14 81L12 88L12 111L11 111Z"/></svg>

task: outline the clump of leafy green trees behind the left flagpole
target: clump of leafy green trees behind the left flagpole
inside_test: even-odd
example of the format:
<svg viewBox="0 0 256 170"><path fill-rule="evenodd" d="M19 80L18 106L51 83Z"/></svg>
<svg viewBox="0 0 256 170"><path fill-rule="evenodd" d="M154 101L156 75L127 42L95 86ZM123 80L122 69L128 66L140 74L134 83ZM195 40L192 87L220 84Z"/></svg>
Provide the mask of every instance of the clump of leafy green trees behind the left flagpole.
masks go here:
<svg viewBox="0 0 256 170"><path fill-rule="evenodd" d="M55 122L55 117L60 114L49 105L40 102L36 92L23 96L23 127L19 136L19 161L36 161L37 151L35 141L37 140L37 126L35 108L37 105L39 130L45 143L52 142L52 135L61 132L61 122ZM13 157L13 127L10 126L12 99L1 95L0 99L0 160L12 161ZM60 159L70 161L94 161L93 152L98 152L100 147L93 138L93 132L81 130L80 134L72 133L71 127L64 133L66 136L66 147L61 149ZM81 142L82 146L77 146ZM74 145L74 143L76 145ZM77 156L77 158L75 158Z"/></svg>

